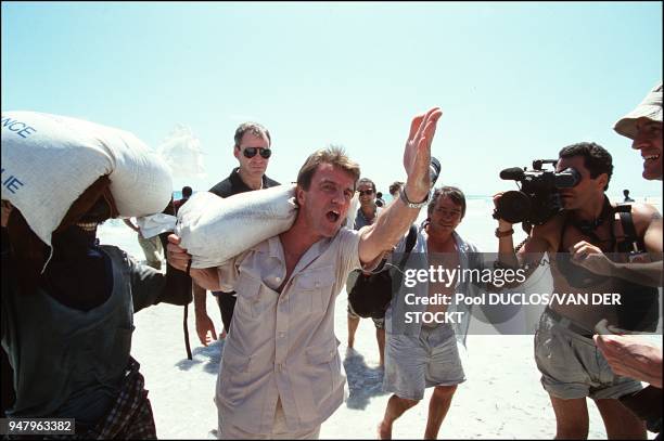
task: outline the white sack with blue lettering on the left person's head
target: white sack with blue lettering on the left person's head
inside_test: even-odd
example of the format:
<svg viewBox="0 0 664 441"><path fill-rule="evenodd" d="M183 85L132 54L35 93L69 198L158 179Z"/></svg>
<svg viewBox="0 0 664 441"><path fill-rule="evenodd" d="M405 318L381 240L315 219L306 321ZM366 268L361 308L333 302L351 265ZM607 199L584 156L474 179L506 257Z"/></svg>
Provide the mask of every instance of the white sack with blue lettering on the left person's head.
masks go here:
<svg viewBox="0 0 664 441"><path fill-rule="evenodd" d="M80 119L3 112L2 199L47 245L72 204L101 176L122 217L161 212L171 197L168 166L133 134Z"/></svg>

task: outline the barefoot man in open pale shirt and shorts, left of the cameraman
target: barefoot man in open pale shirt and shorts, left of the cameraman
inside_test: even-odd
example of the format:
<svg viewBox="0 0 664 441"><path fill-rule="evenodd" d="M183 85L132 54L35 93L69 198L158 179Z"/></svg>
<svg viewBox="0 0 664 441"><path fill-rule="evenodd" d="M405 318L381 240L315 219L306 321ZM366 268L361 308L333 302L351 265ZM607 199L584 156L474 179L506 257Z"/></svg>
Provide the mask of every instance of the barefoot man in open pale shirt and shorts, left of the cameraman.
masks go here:
<svg viewBox="0 0 664 441"><path fill-rule="evenodd" d="M429 202L427 215L423 226L418 230L413 252L426 256L429 265L468 268L471 264L469 256L477 256L478 250L456 232L465 215L463 192L454 186L437 189ZM405 239L397 245L397 255L404 252L404 249ZM445 296L469 293L470 286L461 283L451 288L444 284L432 284L430 287L427 283L422 283L414 289L417 298L423 299L432 298L434 293ZM398 319L393 314L397 304L405 301L401 295L399 291L395 296L385 313L387 340L383 390L394 394L387 401L385 415L379 425L379 438L392 439L394 421L424 398L425 388L433 387L424 429L424 439L433 440L438 436L457 385L465 381L465 374L459 358L457 335L450 323L395 323L404 321L398 314ZM431 312L432 316L445 313L448 308L444 304L429 304L429 301L417 301L416 304L421 306L418 311Z"/></svg>

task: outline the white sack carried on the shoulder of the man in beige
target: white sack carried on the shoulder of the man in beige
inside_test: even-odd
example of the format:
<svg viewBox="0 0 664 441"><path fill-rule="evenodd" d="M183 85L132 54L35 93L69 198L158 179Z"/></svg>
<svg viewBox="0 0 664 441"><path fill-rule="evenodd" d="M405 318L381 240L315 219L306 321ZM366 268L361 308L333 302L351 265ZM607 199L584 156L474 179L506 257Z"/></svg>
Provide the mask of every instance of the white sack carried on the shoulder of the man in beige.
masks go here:
<svg viewBox="0 0 664 441"><path fill-rule="evenodd" d="M176 234L191 268L218 267L289 230L297 215L295 185L278 185L221 198L197 192L178 211Z"/></svg>

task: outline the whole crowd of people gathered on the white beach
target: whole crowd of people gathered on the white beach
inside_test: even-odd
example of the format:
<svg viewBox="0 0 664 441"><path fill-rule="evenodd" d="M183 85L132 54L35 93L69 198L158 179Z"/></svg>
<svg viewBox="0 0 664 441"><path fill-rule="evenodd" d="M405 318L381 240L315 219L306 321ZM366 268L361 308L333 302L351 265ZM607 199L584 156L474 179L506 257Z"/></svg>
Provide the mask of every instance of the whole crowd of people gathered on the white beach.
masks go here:
<svg viewBox="0 0 664 441"><path fill-rule="evenodd" d="M103 177L84 194L93 204L73 206L75 212L53 233L50 258L30 235L29 220L3 199L2 269L10 274L2 282L2 348L9 361L3 359L3 385L13 369L13 395L3 387L3 414L75 418L73 436L79 438L155 438L140 365L130 355L132 314L159 302L186 304L192 296L201 343L226 338L215 393L218 437L318 439L321 425L344 401L334 335L342 289L350 293L361 277L385 271L399 280L397 270L411 259L460 270L487 265L471 238L456 231L467 209L462 190L433 189L431 145L440 116L434 107L412 119L404 150L406 179L390 185L392 200L382 199L345 152L317 151L297 173L292 226L214 268L192 268L178 235L144 238L130 220L146 265L117 247L100 246L97 226L117 211ZM661 82L614 129L641 154L643 178L661 180ZM232 151L239 166L209 192L226 198L279 185L266 174L272 147L264 126L240 125ZM628 205L608 199L613 168L611 154L596 143L565 146L556 170L573 169L577 181L560 189L562 210L529 229L516 248L513 224L497 216L494 268L529 275L548 254L557 291L591 287L628 293L639 301L622 310L562 303L545 310L534 355L556 414L557 438L587 438L587 398L597 404L609 438L646 439L647 427L661 429L662 404L652 397L661 399L662 349L624 329L651 330L660 320L662 218L653 207L627 200L628 194ZM164 212L175 215L191 194L191 187L182 189L182 199ZM356 195L359 207L348 224ZM501 197L495 195L497 206ZM414 224L423 207L426 220ZM165 272L153 258L158 246L167 258ZM43 272L36 271L42 265ZM587 271L585 277L579 269ZM464 343L471 315L454 325L405 322L405 308L433 317L454 307L432 299L477 289L469 281L422 283L409 291L414 307L405 307L406 291L396 289L384 313L371 315L383 389L392 393L383 419L375 421L379 438L391 439L395 421L433 388L423 437L435 439L465 380L458 345ZM206 311L208 291L219 306L221 334ZM349 348L358 311L349 301ZM602 328L609 333L598 332L602 321L611 325ZM37 330L43 326L48 333ZM643 393L641 381L651 385L650 393Z"/></svg>

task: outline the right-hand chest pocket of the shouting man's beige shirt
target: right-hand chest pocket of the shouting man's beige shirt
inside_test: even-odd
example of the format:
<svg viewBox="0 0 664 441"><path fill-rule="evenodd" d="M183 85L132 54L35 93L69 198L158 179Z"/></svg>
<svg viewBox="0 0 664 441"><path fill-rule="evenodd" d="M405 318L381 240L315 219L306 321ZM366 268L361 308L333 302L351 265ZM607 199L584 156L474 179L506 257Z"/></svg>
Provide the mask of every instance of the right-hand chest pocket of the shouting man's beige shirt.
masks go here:
<svg viewBox="0 0 664 441"><path fill-rule="evenodd" d="M295 297L297 310L322 314L330 306L334 293L334 274L332 267L318 268L301 273L297 276Z"/></svg>

